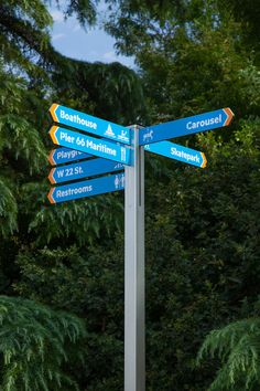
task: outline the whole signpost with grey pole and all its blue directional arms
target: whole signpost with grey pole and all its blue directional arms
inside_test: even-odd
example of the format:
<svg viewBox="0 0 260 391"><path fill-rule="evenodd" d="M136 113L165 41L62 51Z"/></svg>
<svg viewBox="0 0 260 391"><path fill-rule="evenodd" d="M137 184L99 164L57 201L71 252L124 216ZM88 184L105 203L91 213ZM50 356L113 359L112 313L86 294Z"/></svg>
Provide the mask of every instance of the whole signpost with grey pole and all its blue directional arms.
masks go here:
<svg viewBox="0 0 260 391"><path fill-rule="evenodd" d="M55 125L50 130L62 148L50 154L56 167L48 179L65 182L50 190L50 202L124 190L124 391L145 391L144 150L204 168L204 152L165 140L226 127L234 114L220 108L130 129L57 104L50 112L56 124L73 128Z"/></svg>

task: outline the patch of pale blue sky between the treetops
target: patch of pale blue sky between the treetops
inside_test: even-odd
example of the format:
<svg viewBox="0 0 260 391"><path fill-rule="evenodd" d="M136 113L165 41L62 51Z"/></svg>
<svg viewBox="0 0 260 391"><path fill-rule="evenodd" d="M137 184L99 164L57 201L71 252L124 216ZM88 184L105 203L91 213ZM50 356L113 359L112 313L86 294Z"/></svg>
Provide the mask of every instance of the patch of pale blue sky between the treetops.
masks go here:
<svg viewBox="0 0 260 391"><path fill-rule="evenodd" d="M75 17L64 21L62 10L51 8L54 24L52 30L52 43L62 54L88 62L100 61L111 63L118 61L131 68L134 67L133 59L118 56L113 49L115 40L100 28L91 28L87 31L80 28ZM104 6L99 8L99 14L104 12Z"/></svg>

